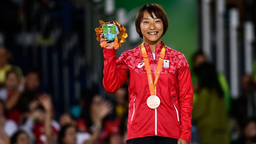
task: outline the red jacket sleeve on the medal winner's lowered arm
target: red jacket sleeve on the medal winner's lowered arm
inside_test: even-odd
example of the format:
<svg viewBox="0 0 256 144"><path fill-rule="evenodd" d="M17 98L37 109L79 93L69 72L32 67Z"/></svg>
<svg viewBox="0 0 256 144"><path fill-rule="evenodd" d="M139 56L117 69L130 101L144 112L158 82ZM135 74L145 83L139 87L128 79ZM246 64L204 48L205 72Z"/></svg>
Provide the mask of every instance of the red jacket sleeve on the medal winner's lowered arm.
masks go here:
<svg viewBox="0 0 256 144"><path fill-rule="evenodd" d="M183 55L184 56L184 55ZM185 60L185 61L184 61ZM192 132L191 119L193 107L193 86L191 81L190 69L184 56L183 63L178 68L178 103L180 106L180 138L190 143Z"/></svg>

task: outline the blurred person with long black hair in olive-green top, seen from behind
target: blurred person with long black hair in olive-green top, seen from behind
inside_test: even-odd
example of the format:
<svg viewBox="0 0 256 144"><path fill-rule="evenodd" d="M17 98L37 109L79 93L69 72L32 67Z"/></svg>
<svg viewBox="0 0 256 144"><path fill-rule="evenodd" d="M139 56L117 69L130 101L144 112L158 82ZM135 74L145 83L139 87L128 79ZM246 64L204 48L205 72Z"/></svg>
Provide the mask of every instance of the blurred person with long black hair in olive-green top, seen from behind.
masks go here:
<svg viewBox="0 0 256 144"><path fill-rule="evenodd" d="M228 113L215 68L204 63L195 68L195 73L198 89L192 120L197 125L200 143L228 144Z"/></svg>

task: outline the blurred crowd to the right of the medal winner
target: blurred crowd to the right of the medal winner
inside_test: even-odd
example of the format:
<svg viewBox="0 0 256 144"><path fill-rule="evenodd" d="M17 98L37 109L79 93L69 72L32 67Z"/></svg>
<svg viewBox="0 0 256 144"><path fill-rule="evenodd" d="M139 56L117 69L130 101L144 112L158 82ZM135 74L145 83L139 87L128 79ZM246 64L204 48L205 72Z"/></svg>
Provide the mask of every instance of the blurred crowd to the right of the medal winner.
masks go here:
<svg viewBox="0 0 256 144"><path fill-rule="evenodd" d="M241 77L242 95L231 98L224 74L216 71L203 52L193 56L193 144L256 143L256 73Z"/></svg>

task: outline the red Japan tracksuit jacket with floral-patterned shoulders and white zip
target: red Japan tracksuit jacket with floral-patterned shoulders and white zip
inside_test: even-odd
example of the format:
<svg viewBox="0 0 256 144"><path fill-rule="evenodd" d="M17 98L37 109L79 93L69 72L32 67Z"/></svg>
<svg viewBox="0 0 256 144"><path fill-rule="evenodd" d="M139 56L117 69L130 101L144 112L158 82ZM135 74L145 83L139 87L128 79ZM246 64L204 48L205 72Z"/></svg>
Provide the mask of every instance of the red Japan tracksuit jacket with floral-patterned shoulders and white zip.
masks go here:
<svg viewBox="0 0 256 144"><path fill-rule="evenodd" d="M164 43L156 45L156 60L150 46L144 43L154 79L155 69ZM127 140L146 136L181 138L190 143L193 87L185 56L165 45L166 52L156 95L161 104L148 108L150 96L141 44L125 51L116 60L115 49L103 49L103 85L108 93L117 92L129 78L129 115Z"/></svg>

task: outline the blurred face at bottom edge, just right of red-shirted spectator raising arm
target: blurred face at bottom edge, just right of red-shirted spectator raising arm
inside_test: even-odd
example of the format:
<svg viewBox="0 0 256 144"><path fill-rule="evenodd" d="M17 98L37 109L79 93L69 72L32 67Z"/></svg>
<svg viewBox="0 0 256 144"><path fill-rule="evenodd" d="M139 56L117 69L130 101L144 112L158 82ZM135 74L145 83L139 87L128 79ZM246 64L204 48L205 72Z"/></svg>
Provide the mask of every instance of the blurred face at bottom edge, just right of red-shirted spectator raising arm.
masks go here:
<svg viewBox="0 0 256 144"><path fill-rule="evenodd" d="M76 144L76 129L74 126L70 126L65 133L65 137L63 139L63 143L65 144Z"/></svg>

